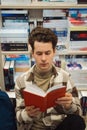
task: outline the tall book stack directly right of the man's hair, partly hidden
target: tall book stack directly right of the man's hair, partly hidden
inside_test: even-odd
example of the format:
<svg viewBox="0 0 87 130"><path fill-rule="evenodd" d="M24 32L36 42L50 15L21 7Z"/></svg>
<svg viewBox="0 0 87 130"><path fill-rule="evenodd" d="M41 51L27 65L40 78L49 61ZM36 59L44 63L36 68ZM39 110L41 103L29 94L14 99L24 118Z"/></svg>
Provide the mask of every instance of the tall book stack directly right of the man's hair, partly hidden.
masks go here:
<svg viewBox="0 0 87 130"><path fill-rule="evenodd" d="M58 45L56 47L58 51L66 49L68 33L67 10L43 10L43 27L52 29L58 36Z"/></svg>

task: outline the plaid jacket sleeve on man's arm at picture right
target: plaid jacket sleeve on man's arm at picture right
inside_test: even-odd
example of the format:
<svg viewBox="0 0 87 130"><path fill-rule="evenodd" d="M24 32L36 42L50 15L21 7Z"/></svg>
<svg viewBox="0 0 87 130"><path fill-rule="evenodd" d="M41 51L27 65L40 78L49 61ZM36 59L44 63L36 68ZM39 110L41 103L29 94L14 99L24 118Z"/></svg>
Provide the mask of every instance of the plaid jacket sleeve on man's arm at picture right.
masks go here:
<svg viewBox="0 0 87 130"><path fill-rule="evenodd" d="M78 90L75 87L75 84L71 78L71 75L60 69L60 73L62 74L62 82L63 84L66 85L67 90L66 92L69 92L72 94L73 96L73 101L71 104L70 109L66 110L65 108L61 108L59 106L56 107L56 110L58 111L58 113L64 113L64 114L78 114L78 115L82 115L82 108L81 108L81 104L80 104L80 99L78 96Z"/></svg>

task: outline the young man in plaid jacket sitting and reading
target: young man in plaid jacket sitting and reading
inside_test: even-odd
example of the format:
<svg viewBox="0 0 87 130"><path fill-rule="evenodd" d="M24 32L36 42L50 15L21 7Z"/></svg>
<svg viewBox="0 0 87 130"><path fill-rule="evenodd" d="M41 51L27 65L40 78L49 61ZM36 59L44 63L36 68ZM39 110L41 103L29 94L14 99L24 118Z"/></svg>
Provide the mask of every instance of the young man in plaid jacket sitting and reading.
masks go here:
<svg viewBox="0 0 87 130"><path fill-rule="evenodd" d="M29 36L35 65L17 78L16 115L21 130L84 130L85 123L78 93L69 73L53 64L57 36L52 30L37 27ZM28 85L36 84L47 91L54 85L66 85L64 97L57 99L56 106L41 112L34 105L25 107L22 90ZM29 99L32 100L32 99Z"/></svg>

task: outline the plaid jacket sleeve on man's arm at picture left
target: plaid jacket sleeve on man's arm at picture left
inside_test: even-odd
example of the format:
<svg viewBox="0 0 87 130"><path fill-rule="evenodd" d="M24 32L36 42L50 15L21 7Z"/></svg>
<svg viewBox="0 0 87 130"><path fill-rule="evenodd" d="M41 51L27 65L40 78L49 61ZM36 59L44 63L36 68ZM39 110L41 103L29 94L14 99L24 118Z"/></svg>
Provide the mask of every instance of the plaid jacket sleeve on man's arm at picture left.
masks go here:
<svg viewBox="0 0 87 130"><path fill-rule="evenodd" d="M20 80L21 79L21 80ZM31 123L32 118L29 117L25 111L25 104L24 104L24 99L22 97L21 89L23 86L23 80L22 78L18 78L16 80L16 85L15 85L15 93L16 93L16 118L19 123L25 122L25 123Z"/></svg>

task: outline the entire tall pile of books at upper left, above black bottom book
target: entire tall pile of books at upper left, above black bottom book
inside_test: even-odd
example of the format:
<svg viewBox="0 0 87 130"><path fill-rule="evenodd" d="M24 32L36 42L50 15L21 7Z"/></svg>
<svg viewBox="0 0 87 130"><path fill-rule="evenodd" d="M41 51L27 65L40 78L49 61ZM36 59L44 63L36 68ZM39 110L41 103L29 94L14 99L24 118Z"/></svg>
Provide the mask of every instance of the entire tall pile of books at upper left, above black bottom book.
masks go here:
<svg viewBox="0 0 87 130"><path fill-rule="evenodd" d="M1 49L3 51L28 50L28 11L2 10L2 29L0 30Z"/></svg>

